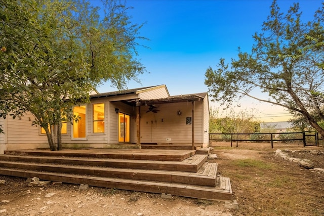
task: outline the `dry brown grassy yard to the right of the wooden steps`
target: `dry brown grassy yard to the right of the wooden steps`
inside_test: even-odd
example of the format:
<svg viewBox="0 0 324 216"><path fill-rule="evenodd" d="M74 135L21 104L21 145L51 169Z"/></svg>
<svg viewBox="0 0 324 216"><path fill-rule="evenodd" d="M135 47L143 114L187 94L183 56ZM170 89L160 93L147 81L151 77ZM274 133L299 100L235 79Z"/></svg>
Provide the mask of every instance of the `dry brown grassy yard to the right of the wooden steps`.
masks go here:
<svg viewBox="0 0 324 216"><path fill-rule="evenodd" d="M213 143L219 172L231 179L239 204L233 215L324 215L324 172L301 168L274 155L276 149L306 150L302 156L311 159L315 167L324 168L324 154L308 151L322 147L280 143L273 149L269 143L238 146Z"/></svg>

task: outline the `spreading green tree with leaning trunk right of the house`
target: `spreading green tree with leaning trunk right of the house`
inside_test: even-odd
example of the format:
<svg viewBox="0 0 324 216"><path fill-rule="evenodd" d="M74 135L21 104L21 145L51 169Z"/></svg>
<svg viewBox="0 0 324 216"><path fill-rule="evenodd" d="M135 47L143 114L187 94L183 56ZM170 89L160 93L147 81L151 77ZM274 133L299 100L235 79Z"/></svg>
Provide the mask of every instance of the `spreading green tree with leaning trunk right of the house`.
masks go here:
<svg viewBox="0 0 324 216"><path fill-rule="evenodd" d="M273 1L262 32L255 33L250 53L238 49L238 59L220 59L217 69L206 70L205 84L214 100L231 105L244 96L300 113L324 136L324 129L313 118L324 114L324 3L314 19L302 22L294 4L286 14ZM253 93L260 91L266 98Z"/></svg>

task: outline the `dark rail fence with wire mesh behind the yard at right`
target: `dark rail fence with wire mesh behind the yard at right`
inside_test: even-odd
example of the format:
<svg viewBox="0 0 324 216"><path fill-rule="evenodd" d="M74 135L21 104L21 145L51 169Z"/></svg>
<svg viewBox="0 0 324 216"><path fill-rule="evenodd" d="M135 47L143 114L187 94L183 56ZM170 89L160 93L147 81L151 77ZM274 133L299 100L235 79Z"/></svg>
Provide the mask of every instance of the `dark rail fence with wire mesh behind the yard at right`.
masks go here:
<svg viewBox="0 0 324 216"><path fill-rule="evenodd" d="M209 146L212 142L270 142L273 148L274 142L292 142L303 143L303 146L320 146L323 145L323 139L317 132L285 132L285 133L254 133L254 134L209 134Z"/></svg>

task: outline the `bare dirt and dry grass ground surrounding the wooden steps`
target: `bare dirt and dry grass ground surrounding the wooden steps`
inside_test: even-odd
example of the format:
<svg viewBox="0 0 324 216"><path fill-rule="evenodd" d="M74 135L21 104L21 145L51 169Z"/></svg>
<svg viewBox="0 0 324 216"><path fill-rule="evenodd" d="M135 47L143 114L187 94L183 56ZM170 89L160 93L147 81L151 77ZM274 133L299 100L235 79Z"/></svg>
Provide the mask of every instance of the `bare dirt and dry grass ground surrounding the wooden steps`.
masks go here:
<svg viewBox="0 0 324 216"><path fill-rule="evenodd" d="M238 209L226 209L223 202L160 194L51 184L28 187L22 178L0 176L0 215L324 215L324 172L299 167L276 157L276 149L296 158L310 159L324 168L324 154L297 144L214 143L210 162L219 163L219 174L231 180ZM47 197L48 196L48 197Z"/></svg>

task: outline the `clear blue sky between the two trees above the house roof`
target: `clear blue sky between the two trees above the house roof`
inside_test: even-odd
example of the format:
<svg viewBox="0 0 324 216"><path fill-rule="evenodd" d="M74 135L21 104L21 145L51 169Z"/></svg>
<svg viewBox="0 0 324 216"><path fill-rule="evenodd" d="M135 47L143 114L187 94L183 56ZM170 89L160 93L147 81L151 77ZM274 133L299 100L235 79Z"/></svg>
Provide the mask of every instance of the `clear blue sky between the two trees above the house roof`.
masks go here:
<svg viewBox="0 0 324 216"><path fill-rule="evenodd" d="M100 1L92 2L100 5ZM321 1L277 3L281 12L286 13L294 2L300 4L303 21L310 20L321 6ZM127 1L127 6L134 8L129 10L132 22L146 22L140 35L150 39L139 41L150 49L137 49L137 58L149 73L139 76L141 84L130 81L128 89L166 84L170 95L208 92L204 84L206 69L216 69L220 58L236 58L238 47L249 52L254 43L252 35L261 32L271 4L272 1L264 0ZM98 91L116 89L106 83ZM257 102L247 100L246 104L248 108L263 109Z"/></svg>

